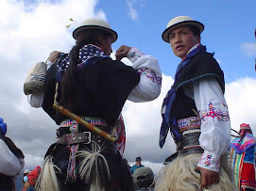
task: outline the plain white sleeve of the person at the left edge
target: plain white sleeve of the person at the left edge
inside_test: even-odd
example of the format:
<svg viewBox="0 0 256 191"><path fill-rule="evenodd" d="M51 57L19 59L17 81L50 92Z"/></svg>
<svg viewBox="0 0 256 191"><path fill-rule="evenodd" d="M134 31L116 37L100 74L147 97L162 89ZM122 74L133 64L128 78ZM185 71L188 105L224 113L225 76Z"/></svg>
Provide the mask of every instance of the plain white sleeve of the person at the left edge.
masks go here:
<svg viewBox="0 0 256 191"><path fill-rule="evenodd" d="M16 176L21 171L19 159L2 139L0 139L0 164L0 173L6 176Z"/></svg>

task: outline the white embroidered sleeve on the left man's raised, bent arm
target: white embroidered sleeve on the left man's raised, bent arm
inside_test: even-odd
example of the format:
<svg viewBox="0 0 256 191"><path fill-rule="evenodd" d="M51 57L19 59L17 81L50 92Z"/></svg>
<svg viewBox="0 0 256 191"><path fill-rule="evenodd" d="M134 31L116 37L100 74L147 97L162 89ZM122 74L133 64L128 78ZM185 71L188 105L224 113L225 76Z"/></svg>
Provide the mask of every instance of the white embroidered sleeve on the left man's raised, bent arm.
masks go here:
<svg viewBox="0 0 256 191"><path fill-rule="evenodd" d="M137 48L131 48L128 59L132 68L140 73L139 84L132 89L128 100L134 103L149 102L158 98L162 86L162 72L158 60L153 56L145 56Z"/></svg>

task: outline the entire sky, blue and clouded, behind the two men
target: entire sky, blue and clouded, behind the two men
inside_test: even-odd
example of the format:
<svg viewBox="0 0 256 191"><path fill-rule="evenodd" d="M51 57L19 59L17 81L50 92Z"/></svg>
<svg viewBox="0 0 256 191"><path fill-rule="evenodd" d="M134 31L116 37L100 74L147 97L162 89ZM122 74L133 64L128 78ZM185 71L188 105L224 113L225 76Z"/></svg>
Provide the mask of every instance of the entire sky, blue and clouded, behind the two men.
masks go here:
<svg viewBox="0 0 256 191"><path fill-rule="evenodd" d="M171 135L158 146L162 99L173 83L179 58L161 39L166 24L188 15L205 24L202 43L225 72L226 100L231 128L247 122L256 134L256 2L169 0L1 0L0 1L0 117L8 123L8 136L25 153L26 168L42 166L58 126L42 108L26 102L23 85L29 70L45 61L53 50L69 52L75 44L76 23L97 17L108 21L120 45L135 46L158 58L162 69L162 92L150 103L127 102L123 116L127 129L125 157L134 163L140 155L145 166L157 173L164 159L175 151ZM65 25L72 24L70 28ZM114 58L114 56L112 55Z"/></svg>

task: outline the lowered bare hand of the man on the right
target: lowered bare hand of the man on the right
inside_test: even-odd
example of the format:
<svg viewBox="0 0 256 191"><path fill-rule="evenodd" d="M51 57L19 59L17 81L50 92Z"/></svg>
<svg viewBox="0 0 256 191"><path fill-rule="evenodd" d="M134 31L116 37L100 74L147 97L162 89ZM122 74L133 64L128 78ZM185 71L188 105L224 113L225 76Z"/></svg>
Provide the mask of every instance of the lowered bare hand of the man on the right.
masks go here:
<svg viewBox="0 0 256 191"><path fill-rule="evenodd" d="M196 166L196 169L201 172L201 185L202 187L207 187L212 185L213 183L219 182L219 172L215 172L203 167Z"/></svg>

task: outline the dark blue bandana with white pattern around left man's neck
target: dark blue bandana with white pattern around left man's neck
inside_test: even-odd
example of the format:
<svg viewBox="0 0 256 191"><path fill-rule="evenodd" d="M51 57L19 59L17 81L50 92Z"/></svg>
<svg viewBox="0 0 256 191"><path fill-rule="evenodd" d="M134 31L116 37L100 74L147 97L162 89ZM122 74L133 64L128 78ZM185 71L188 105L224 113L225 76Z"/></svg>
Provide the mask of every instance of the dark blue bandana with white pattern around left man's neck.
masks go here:
<svg viewBox="0 0 256 191"><path fill-rule="evenodd" d="M78 64L77 68L81 69L84 66L92 66L94 63L105 56L104 52L97 46L93 44L86 44L79 50ZM60 55L57 61L57 81L60 82L64 72L67 70L70 60L68 54Z"/></svg>

